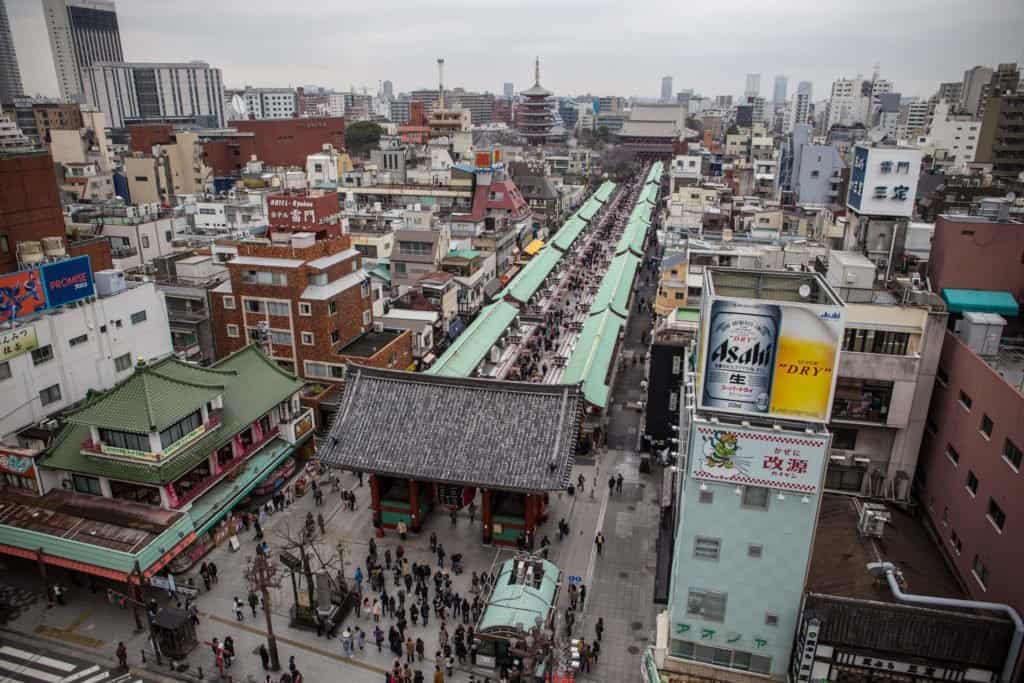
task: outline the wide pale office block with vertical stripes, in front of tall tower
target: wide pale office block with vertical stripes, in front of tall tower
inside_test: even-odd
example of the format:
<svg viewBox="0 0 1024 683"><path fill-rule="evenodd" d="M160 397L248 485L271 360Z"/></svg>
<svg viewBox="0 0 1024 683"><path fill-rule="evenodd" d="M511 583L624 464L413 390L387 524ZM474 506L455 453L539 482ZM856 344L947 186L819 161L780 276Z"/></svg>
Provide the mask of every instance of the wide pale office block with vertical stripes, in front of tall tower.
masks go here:
<svg viewBox="0 0 1024 683"><path fill-rule="evenodd" d="M205 61L97 61L83 71L85 96L112 128L148 122L224 125L220 70Z"/></svg>

